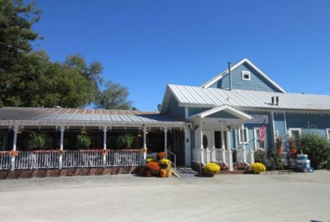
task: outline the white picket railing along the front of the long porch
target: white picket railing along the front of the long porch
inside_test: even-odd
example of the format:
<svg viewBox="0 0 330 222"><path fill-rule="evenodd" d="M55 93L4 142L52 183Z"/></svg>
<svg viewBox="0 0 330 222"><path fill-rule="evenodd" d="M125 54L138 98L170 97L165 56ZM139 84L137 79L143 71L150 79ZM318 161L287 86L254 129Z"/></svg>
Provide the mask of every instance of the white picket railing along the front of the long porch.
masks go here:
<svg viewBox="0 0 330 222"><path fill-rule="evenodd" d="M0 170L106 166L142 166L143 150L19 151L0 153Z"/></svg>

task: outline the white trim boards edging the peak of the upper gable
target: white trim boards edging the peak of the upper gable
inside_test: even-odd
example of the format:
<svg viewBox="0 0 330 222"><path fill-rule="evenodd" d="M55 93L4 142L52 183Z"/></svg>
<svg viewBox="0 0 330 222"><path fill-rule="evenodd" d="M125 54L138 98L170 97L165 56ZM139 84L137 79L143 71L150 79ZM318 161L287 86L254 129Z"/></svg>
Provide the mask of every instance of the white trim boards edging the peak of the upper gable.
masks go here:
<svg viewBox="0 0 330 222"><path fill-rule="evenodd" d="M254 70L256 70L261 76L263 76L263 78L265 78L268 82L270 82L272 85L274 85L274 87L276 87L276 89L278 89L279 91L285 93L285 90L280 87L276 82L274 82L274 80L272 80L269 76L267 76L263 71L261 71L258 67L256 67L256 65L254 65L250 60L248 60L248 58L243 58L242 60L240 60L238 63L236 63L235 65L232 66L232 70L236 69L237 67L239 67L240 65L242 65L243 63L248 63L248 65L250 65ZM214 78L211 78L210 80L208 80L208 82L205 82L203 85L201 85L201 87L203 88L208 88L211 85L213 85L215 82L219 81L221 78L223 78L223 76L229 74L229 70L225 69L225 71L221 72L220 74L218 74L217 76L214 76Z"/></svg>

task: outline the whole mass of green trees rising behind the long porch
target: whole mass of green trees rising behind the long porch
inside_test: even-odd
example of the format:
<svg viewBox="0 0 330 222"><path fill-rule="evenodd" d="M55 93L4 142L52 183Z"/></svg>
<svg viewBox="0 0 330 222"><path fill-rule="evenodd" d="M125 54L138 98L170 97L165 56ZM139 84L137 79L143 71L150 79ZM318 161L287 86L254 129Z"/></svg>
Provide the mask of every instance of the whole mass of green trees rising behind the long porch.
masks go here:
<svg viewBox="0 0 330 222"><path fill-rule="evenodd" d="M44 51L33 52L30 42L39 34L32 25L41 18L34 3L0 0L0 107L128 109L126 88L111 82L102 91L102 64L87 64L80 54L53 63ZM100 99L102 98L102 100Z"/></svg>

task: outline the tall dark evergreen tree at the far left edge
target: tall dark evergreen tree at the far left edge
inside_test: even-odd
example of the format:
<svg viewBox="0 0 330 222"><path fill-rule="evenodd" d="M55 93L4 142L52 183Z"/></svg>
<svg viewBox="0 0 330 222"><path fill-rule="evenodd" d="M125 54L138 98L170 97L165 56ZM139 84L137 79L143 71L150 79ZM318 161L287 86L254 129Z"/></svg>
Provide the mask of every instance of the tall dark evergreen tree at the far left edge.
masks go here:
<svg viewBox="0 0 330 222"><path fill-rule="evenodd" d="M20 98L12 93L22 76L26 58L22 52L31 52L30 41L38 38L32 25L39 21L41 11L34 5L24 5L22 0L0 0L0 107L20 104Z"/></svg>

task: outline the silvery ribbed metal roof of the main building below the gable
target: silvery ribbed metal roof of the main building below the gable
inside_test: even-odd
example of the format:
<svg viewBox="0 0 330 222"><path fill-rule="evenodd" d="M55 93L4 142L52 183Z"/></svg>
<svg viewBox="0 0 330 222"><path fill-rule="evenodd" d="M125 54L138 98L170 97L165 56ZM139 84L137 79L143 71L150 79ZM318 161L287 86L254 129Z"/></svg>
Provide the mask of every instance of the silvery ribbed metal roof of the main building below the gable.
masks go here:
<svg viewBox="0 0 330 222"><path fill-rule="evenodd" d="M170 93L173 93L181 107L216 107L227 104L232 107L330 111L330 96L326 95L168 85L164 101L169 100ZM272 96L278 96L278 105L272 104Z"/></svg>

